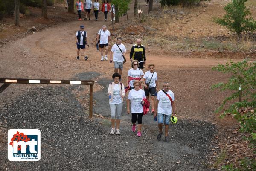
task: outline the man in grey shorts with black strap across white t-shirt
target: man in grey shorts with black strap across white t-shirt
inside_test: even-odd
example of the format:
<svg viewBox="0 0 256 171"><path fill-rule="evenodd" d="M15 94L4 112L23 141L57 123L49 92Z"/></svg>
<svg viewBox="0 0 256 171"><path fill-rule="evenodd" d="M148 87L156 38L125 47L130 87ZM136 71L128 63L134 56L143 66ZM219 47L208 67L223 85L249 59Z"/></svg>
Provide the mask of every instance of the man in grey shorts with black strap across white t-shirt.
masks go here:
<svg viewBox="0 0 256 171"><path fill-rule="evenodd" d="M121 49L121 51L120 51ZM117 38L117 43L114 44L110 51L110 63L112 62L112 53L113 53L113 61L114 61L114 73L119 73L122 75L123 63L126 53L125 45L122 44L122 38ZM119 69L119 72L118 72ZM121 78L119 79L121 81Z"/></svg>

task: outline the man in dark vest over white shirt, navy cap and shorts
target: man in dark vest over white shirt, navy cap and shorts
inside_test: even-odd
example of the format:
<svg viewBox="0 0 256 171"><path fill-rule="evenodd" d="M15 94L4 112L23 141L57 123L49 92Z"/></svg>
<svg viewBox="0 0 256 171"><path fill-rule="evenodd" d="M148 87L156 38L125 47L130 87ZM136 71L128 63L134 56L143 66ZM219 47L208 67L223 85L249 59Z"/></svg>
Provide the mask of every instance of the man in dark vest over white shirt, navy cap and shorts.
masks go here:
<svg viewBox="0 0 256 171"><path fill-rule="evenodd" d="M76 46L77 46L77 57L76 59L79 59L79 53L80 49L83 50L83 55L84 55L84 60L87 60L88 57L85 56L84 50L85 50L85 45L87 44L87 33L84 31L84 26L80 26L80 30L76 32Z"/></svg>

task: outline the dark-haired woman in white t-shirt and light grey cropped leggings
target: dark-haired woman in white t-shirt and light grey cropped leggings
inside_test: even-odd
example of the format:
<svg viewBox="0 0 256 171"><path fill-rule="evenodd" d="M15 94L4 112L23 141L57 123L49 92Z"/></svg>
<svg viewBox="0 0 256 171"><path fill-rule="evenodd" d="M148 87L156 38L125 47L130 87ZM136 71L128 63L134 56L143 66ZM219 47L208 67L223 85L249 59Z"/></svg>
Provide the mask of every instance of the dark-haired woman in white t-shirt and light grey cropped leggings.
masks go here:
<svg viewBox="0 0 256 171"><path fill-rule="evenodd" d="M120 135L119 125L122 113L122 105L124 102L123 97L125 96L125 87L124 84L119 82L121 75L119 73L114 73L112 75L113 82L108 86L108 96L109 96L109 106L111 111L111 125L112 129L110 134L116 132L117 135ZM115 130L115 121L116 121L116 130Z"/></svg>

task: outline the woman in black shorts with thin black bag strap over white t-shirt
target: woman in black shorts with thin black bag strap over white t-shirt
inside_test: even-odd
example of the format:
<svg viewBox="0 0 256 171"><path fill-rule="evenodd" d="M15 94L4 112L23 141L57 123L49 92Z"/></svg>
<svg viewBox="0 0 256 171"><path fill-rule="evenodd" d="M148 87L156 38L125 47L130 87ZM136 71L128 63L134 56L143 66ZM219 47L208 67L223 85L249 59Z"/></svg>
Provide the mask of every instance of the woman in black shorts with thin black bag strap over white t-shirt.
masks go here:
<svg viewBox="0 0 256 171"><path fill-rule="evenodd" d="M143 84L144 84L144 91L146 94L146 97L149 101L149 94L151 96L151 107L152 107L152 113L154 113L154 99L157 92L158 82L157 82L157 72L154 72L154 64L149 64L148 69L149 71L145 72L143 76ZM149 112L149 109L147 109L147 112Z"/></svg>

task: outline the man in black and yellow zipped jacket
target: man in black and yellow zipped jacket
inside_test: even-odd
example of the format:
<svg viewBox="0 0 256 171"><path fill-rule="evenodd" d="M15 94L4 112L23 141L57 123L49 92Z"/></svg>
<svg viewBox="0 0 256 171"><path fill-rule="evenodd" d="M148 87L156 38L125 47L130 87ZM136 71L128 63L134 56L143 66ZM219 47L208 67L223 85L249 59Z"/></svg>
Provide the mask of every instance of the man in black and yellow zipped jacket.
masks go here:
<svg viewBox="0 0 256 171"><path fill-rule="evenodd" d="M146 64L145 47L141 44L141 40L137 39L136 44L131 47L130 60L137 59L139 61L139 68L143 69Z"/></svg>

